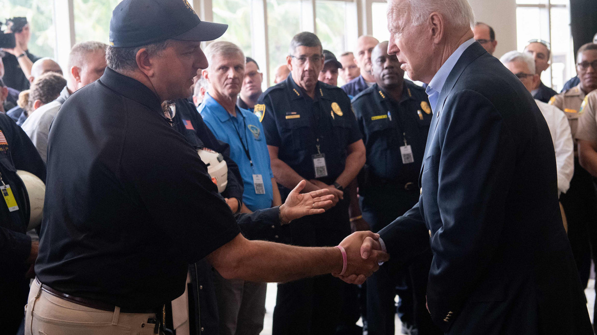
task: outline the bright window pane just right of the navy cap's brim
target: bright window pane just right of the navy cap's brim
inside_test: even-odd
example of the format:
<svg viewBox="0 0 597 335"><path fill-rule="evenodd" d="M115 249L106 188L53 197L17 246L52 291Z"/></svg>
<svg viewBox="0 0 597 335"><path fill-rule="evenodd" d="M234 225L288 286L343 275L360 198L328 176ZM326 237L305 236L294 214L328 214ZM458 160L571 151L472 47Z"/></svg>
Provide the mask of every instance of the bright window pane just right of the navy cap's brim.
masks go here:
<svg viewBox="0 0 597 335"><path fill-rule="evenodd" d="M218 41L229 41L251 55L251 4L249 0L216 0L212 2L214 22L228 24Z"/></svg>

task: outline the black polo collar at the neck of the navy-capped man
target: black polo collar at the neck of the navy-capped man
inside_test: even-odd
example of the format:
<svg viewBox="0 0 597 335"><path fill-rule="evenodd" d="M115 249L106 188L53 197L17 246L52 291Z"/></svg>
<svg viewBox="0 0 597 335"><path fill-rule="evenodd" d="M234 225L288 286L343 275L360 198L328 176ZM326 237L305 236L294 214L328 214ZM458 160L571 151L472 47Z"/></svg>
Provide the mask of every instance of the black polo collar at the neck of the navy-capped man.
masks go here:
<svg viewBox="0 0 597 335"><path fill-rule="evenodd" d="M163 116L162 106L158 96L138 80L121 75L109 67L106 67L106 71L99 80L103 85L113 89L113 91L116 91L118 94L137 101L137 103L155 110Z"/></svg>

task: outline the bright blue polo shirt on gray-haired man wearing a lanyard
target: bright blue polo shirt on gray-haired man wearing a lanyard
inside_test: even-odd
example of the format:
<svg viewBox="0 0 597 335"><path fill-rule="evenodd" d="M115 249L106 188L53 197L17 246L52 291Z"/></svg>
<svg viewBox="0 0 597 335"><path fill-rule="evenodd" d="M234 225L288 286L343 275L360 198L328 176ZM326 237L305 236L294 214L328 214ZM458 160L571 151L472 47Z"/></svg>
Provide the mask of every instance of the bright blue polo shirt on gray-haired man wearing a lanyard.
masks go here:
<svg viewBox="0 0 597 335"><path fill-rule="evenodd" d="M251 111L238 106L236 106L236 117L234 117L208 93L205 94L203 103L198 109L205 124L216 138L230 145L230 158L241 170L242 184L244 185L242 202L253 211L272 207L273 172L263 126L261 126L259 118ZM243 144L249 150L253 166L245 153ZM253 175L263 177L265 194L255 193Z"/></svg>

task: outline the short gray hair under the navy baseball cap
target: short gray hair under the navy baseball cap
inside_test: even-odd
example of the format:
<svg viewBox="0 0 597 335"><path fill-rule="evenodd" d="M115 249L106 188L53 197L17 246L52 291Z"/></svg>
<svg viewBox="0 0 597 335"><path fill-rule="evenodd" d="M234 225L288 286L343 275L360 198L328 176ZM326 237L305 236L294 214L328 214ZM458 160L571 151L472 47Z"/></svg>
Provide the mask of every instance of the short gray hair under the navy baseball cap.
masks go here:
<svg viewBox="0 0 597 335"><path fill-rule="evenodd" d="M107 66L119 71L134 71L139 69L137 66L137 52L140 49L145 49L150 57L161 55L170 45L170 40L159 41L152 44L131 46L130 48L116 48L114 46L108 46L106 49L106 63Z"/></svg>

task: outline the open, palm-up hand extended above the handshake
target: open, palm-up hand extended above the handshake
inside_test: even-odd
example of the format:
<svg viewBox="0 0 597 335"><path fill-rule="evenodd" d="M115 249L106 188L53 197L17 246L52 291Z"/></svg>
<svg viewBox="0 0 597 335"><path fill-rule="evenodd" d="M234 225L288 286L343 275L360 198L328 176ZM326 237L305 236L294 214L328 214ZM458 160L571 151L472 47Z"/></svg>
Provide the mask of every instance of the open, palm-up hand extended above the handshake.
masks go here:
<svg viewBox="0 0 597 335"><path fill-rule="evenodd" d="M334 196L328 190L300 193L306 184L306 181L301 180L280 206L282 221L290 222L305 215L321 214L333 206Z"/></svg>

